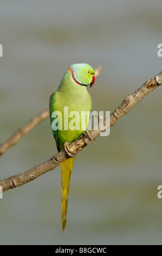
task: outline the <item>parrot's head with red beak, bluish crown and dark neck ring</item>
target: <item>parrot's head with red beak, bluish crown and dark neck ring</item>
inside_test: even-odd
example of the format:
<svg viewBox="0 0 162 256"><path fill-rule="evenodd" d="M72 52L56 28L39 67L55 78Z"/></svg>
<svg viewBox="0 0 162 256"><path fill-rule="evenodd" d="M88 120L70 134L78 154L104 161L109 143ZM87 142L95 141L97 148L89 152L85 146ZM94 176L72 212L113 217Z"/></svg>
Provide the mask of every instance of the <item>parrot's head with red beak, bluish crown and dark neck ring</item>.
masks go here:
<svg viewBox="0 0 162 256"><path fill-rule="evenodd" d="M74 83L80 86L92 87L95 81L95 72L87 63L72 64L68 71Z"/></svg>

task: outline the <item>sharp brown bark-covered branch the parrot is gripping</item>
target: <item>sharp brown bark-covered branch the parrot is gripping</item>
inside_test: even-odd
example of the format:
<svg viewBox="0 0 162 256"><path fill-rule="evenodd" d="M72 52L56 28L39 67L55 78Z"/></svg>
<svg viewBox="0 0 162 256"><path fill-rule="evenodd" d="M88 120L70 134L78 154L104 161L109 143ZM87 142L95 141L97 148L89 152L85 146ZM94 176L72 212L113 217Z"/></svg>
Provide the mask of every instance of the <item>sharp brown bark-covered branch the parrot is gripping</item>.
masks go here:
<svg viewBox="0 0 162 256"><path fill-rule="evenodd" d="M129 110L135 106L138 102L144 99L147 94L151 93L155 88L159 87L162 84L162 71L155 76L153 79L146 81L142 86L136 90L133 94L129 94L124 101L116 108L110 115L110 124L107 125L106 119L103 118L103 125L100 126L97 130L97 127L93 127L89 131L89 137L82 135L77 141L69 143L68 151L70 155L76 156L76 154L85 148L88 144L94 141L96 137L109 128L113 126L115 121L120 117L123 117L129 112ZM102 117L99 117L99 119ZM10 176L7 179L0 181L0 186L3 188L3 192L9 190L10 188L15 188L30 182L44 173L54 170L61 162L68 159L69 155L65 150L61 150L59 153L51 157L46 162L37 164L35 167L27 170L27 172Z"/></svg>

